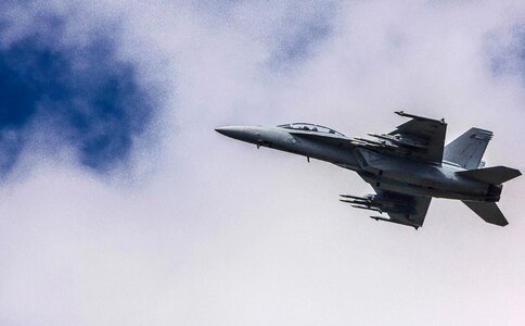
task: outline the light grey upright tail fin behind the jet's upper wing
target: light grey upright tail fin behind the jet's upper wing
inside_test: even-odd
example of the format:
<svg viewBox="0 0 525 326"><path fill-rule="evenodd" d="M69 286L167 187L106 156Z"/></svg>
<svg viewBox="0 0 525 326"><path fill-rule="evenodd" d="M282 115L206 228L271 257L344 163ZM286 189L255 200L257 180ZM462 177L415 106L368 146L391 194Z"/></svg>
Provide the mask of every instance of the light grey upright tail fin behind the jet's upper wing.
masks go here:
<svg viewBox="0 0 525 326"><path fill-rule="evenodd" d="M471 128L445 147L443 159L466 170L478 168L492 131Z"/></svg>

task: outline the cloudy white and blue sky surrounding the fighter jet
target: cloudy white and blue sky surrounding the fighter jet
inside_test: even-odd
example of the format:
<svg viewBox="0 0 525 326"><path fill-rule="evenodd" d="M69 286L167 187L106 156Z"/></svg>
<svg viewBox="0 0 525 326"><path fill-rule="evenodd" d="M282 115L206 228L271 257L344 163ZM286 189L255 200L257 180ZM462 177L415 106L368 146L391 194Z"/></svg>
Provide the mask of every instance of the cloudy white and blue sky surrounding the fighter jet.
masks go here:
<svg viewBox="0 0 525 326"><path fill-rule="evenodd" d="M522 1L2 1L0 325L523 325L523 178L504 228L435 199L415 231L214 128L401 109L523 172L524 103Z"/></svg>

